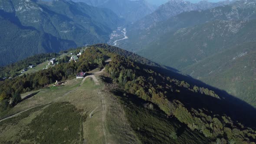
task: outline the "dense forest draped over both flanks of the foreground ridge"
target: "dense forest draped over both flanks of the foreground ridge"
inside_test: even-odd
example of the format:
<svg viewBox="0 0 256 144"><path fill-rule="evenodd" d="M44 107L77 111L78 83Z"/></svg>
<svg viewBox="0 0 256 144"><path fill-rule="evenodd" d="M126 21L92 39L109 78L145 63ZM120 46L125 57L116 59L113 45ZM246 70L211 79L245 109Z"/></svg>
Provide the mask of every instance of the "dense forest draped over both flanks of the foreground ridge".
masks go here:
<svg viewBox="0 0 256 144"><path fill-rule="evenodd" d="M109 57L112 61L105 65L105 59ZM87 47L78 62L66 62L65 57L60 61L49 69L1 81L0 110L4 111L19 102L21 93L47 88L56 80L73 78L81 70L86 72L105 65L108 76L119 85L121 91L157 105L167 118L177 119L209 141L217 144L256 141L256 118L248 115L252 111L245 111L242 105L234 104L230 98L223 98L223 95L211 89L154 71L152 65L159 66L159 69L160 65L140 56L99 44ZM13 105L9 104L10 99ZM171 137L177 138L175 132Z"/></svg>

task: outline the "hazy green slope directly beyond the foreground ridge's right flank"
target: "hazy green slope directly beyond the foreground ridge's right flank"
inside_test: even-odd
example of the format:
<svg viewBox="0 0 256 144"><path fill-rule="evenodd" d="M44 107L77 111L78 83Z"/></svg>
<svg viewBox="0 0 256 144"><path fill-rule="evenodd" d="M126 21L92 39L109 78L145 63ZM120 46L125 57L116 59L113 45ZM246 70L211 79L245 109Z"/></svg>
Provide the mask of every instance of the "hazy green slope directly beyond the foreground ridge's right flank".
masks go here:
<svg viewBox="0 0 256 144"><path fill-rule="evenodd" d="M254 23L256 20L218 20L179 29L161 36L139 53L155 62L184 70L231 46L256 41Z"/></svg>

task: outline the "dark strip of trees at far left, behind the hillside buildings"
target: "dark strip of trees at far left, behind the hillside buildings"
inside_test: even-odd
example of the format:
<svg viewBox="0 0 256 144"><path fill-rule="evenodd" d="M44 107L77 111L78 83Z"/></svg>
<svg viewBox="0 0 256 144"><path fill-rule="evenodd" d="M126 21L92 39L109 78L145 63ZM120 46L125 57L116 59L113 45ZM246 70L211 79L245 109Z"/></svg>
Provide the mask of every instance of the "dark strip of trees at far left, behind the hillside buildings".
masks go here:
<svg viewBox="0 0 256 144"><path fill-rule="evenodd" d="M23 59L19 62L12 63L7 66L0 67L0 79L4 77L15 77L20 75L20 70L27 68L29 65L38 65L42 62L45 62L49 59L55 58L59 56L56 53L44 53L35 56L31 56L29 58Z"/></svg>

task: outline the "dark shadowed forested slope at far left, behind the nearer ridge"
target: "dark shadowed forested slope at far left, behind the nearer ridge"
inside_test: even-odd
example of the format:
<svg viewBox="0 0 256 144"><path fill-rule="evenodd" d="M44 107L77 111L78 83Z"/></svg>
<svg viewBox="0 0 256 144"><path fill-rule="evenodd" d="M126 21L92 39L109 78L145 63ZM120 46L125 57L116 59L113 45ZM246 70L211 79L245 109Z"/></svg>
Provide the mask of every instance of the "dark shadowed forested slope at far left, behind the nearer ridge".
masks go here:
<svg viewBox="0 0 256 144"><path fill-rule="evenodd" d="M21 26L16 23L16 19L8 20L9 16L8 19L4 18L7 15L11 14L0 12L0 66L39 53L59 52L77 46L70 40L59 39L31 27Z"/></svg>

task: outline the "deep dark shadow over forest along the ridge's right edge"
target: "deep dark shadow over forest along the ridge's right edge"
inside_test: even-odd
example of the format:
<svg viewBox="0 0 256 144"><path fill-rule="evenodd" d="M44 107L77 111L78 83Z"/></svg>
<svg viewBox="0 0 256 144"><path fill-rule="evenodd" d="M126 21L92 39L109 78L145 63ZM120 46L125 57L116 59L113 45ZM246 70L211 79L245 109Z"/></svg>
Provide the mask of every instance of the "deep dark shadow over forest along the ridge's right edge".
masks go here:
<svg viewBox="0 0 256 144"><path fill-rule="evenodd" d="M207 85L206 83L194 79L188 75L178 73L178 71L174 71L173 69L164 69L158 66L148 65L141 66L152 69L155 72L161 73L162 75L169 76L171 79L177 79L180 81L185 81L190 85L192 84L197 85L198 87L208 88L209 90L214 91L220 97L220 99L218 99L209 95L191 92L187 88L180 88L181 93L174 93L170 94L169 97L167 96L169 100L177 99L181 101L187 108L194 108L196 110L206 109L208 111L204 111L204 113L208 113L208 115L227 115L233 121L238 121L245 126L256 128L256 108L249 105L245 101L242 101L239 98L228 94L226 91Z"/></svg>

